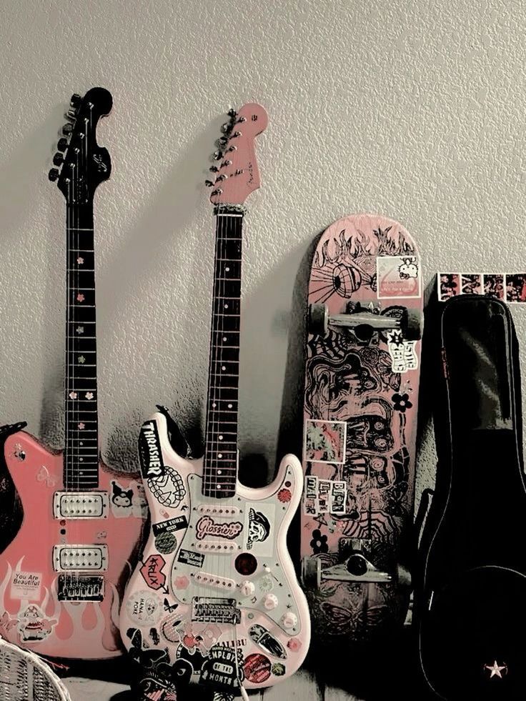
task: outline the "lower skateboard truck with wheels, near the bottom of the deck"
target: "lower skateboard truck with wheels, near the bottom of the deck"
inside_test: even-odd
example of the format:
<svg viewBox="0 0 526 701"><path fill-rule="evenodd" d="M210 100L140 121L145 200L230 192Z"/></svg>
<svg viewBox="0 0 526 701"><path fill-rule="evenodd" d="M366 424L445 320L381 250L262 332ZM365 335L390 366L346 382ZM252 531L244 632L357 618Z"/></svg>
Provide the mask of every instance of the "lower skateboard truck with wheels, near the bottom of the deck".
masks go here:
<svg viewBox="0 0 526 701"><path fill-rule="evenodd" d="M332 567L322 567L322 560L319 557L304 557L302 562L302 579L306 585L316 585L319 589L323 580L339 582L363 582L364 584L382 584L392 582L396 575L389 572L382 572L374 567L372 562L364 555L364 545L370 541L352 538L350 543L350 554L344 562ZM347 550L347 548L346 548ZM397 579L402 585L409 585L411 576L405 567L401 565L397 568Z"/></svg>

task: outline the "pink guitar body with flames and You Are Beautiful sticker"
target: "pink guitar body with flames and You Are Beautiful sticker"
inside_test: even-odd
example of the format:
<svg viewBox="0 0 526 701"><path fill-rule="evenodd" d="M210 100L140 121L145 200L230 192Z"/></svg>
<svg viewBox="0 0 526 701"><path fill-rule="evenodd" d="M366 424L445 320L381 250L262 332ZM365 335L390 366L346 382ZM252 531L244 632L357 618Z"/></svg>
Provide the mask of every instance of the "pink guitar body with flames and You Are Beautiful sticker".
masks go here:
<svg viewBox="0 0 526 701"><path fill-rule="evenodd" d="M62 454L26 432L6 439L5 459L24 518L0 556L0 635L51 657L121 655L119 605L147 514L142 483L101 466L98 489L66 491Z"/></svg>

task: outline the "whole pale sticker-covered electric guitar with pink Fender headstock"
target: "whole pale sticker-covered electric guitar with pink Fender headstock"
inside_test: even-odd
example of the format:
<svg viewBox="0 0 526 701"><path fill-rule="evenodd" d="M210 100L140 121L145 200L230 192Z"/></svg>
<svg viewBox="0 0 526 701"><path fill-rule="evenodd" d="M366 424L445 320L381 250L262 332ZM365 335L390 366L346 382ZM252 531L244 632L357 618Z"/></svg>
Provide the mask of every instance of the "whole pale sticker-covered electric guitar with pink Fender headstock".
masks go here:
<svg viewBox="0 0 526 701"><path fill-rule="evenodd" d="M214 156L216 216L206 449L190 461L172 449L167 419L142 426L139 457L152 527L126 589L121 637L144 667L247 697L284 680L307 653L307 602L287 552L302 469L286 455L263 489L237 481L242 223L259 187L258 104L231 111Z"/></svg>

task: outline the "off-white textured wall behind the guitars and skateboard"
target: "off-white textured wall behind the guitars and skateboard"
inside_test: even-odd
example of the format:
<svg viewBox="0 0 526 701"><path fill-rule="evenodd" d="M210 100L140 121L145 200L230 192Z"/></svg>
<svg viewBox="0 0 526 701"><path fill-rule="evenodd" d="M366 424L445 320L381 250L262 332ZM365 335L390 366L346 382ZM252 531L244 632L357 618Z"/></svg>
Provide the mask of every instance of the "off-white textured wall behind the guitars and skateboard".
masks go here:
<svg viewBox="0 0 526 701"><path fill-rule="evenodd" d="M207 155L228 106L266 106L240 438L273 466L285 371L289 407L301 359L292 338L287 366L294 282L334 219L398 219L426 282L439 268L526 268L525 26L511 0L3 0L0 422L26 419L60 445L64 200L46 172L72 91L114 96L99 130L113 161L96 197L99 404L106 459L128 469L156 402L199 435ZM513 314L524 337L525 309ZM429 446L420 474L433 463Z"/></svg>

